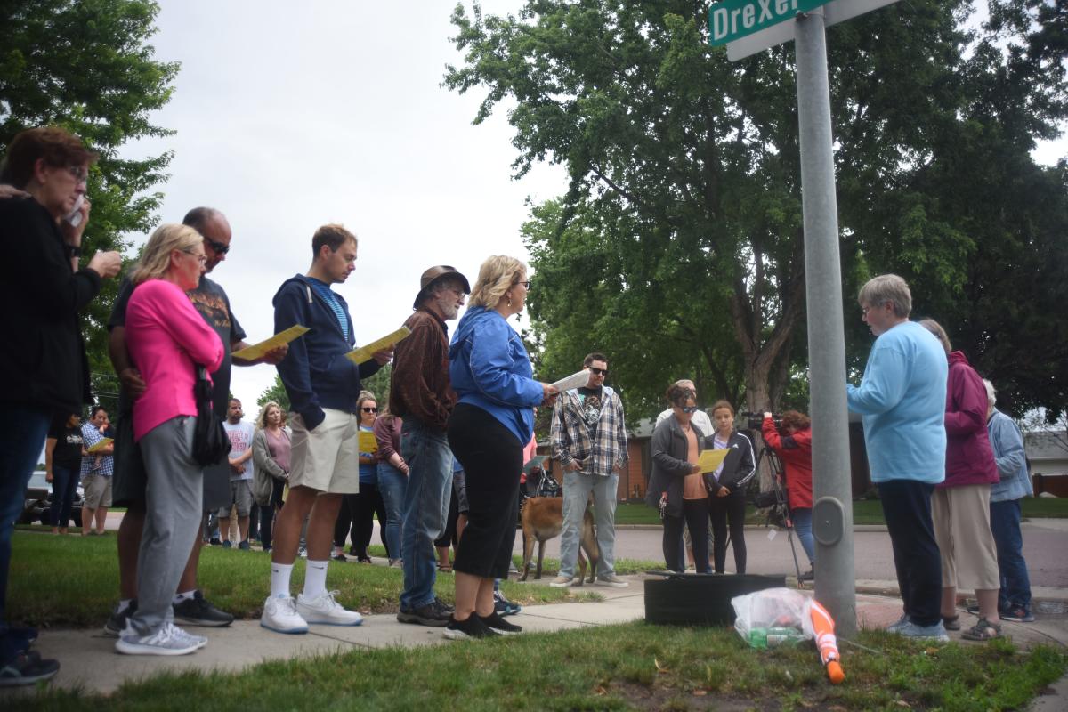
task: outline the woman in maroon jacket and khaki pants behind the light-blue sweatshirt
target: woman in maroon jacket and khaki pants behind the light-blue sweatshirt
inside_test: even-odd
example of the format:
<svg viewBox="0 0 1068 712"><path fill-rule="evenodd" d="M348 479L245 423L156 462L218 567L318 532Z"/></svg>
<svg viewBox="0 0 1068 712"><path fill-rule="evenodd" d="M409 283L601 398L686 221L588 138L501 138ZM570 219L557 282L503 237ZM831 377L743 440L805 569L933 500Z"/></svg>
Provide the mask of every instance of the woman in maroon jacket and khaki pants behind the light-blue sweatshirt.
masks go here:
<svg viewBox="0 0 1068 712"><path fill-rule="evenodd" d="M945 330L933 319L920 323L942 342L949 361L945 481L931 497L934 540L942 554L942 621L947 630L960 629L957 588L973 589L979 620L961 635L989 640L1001 637L1001 577L990 532L990 486L998 481L998 465L987 434L987 391L967 357L953 350Z"/></svg>

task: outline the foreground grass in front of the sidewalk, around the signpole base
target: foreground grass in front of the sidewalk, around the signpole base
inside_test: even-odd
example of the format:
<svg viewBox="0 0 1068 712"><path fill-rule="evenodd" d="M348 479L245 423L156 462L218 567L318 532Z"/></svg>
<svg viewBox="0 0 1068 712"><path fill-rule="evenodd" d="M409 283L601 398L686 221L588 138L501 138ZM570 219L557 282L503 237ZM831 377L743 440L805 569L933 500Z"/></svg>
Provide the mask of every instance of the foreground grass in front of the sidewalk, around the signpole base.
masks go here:
<svg viewBox="0 0 1068 712"><path fill-rule="evenodd" d="M1050 647L923 646L865 632L828 683L812 646L756 651L726 628L644 622L430 648L359 650L184 673L110 697L45 687L22 710L971 710L1020 709L1065 671Z"/></svg>

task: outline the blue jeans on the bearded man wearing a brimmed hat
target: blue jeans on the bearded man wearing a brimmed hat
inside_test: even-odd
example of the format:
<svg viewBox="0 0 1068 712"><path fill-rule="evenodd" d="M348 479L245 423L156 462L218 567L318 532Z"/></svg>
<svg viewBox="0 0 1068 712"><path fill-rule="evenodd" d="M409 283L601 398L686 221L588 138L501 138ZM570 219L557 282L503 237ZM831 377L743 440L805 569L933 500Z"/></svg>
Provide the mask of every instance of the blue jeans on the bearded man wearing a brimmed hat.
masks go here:
<svg viewBox="0 0 1068 712"><path fill-rule="evenodd" d="M400 607L410 611L434 601L434 582L438 575L434 540L445 531L449 520L453 453L444 430L408 417L400 426L400 457L408 463L400 534L404 559Z"/></svg>

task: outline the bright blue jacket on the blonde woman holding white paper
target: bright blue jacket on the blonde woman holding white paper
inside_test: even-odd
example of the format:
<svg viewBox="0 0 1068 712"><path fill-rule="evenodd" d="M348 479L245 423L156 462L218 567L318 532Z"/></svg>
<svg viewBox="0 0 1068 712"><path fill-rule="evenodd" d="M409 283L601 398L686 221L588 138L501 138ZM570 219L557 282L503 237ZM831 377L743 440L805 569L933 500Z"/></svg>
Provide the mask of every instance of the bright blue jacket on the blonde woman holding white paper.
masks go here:
<svg viewBox="0 0 1068 712"><path fill-rule="evenodd" d="M449 379L461 404L477 406L515 434L522 447L534 432L541 384L533 378L523 341L504 317L472 306L449 347Z"/></svg>

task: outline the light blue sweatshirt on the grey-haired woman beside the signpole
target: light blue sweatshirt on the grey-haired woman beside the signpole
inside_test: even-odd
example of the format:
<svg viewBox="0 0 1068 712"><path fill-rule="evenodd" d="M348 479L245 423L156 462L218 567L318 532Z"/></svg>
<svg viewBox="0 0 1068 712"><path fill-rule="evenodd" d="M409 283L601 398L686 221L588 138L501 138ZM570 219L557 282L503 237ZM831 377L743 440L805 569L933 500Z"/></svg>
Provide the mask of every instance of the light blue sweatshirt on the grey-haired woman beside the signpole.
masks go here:
<svg viewBox="0 0 1068 712"><path fill-rule="evenodd" d="M849 410L864 416L873 482L945 479L947 373L942 345L915 321L875 341L861 384L846 384Z"/></svg>

